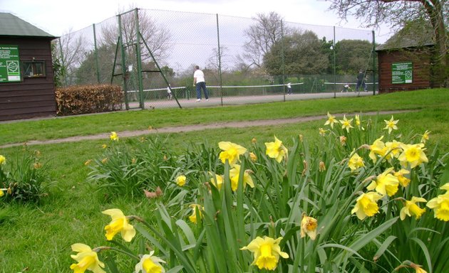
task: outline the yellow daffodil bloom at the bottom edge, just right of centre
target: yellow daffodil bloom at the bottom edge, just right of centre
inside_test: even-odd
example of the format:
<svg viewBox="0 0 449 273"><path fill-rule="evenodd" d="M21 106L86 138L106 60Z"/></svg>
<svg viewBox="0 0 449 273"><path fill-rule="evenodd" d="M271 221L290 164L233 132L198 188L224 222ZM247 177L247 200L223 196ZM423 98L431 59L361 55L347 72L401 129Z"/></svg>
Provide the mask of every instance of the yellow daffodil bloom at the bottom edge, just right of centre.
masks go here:
<svg viewBox="0 0 449 273"><path fill-rule="evenodd" d="M252 265L256 264L259 269L274 270L279 262L279 256L287 259L289 255L281 251L279 242L282 237L274 240L272 237L264 236L256 237L249 245L242 247L240 250L249 250L254 253L254 261Z"/></svg>

